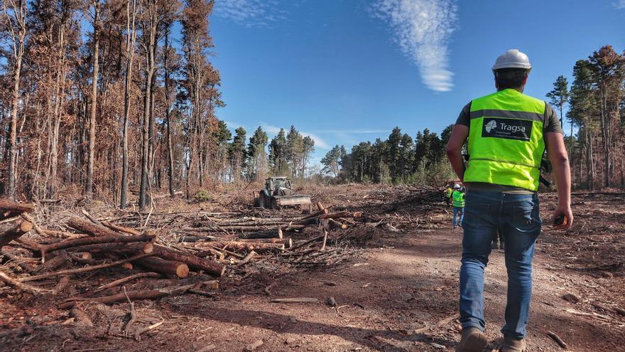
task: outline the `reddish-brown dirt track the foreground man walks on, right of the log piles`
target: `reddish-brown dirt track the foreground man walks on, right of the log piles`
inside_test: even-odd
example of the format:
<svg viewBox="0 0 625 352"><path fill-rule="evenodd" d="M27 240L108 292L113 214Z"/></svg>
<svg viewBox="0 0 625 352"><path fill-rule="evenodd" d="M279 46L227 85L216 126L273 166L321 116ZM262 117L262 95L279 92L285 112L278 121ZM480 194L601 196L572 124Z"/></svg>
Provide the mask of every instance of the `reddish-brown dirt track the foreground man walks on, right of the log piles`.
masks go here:
<svg viewBox="0 0 625 352"><path fill-rule="evenodd" d="M460 242L460 230L450 228L389 238L347 269L310 274L295 284L276 284L271 289L275 297L315 297L320 299L317 304L266 303L268 297L259 289L237 297L236 305L229 300L210 302L205 309L185 305L179 313L193 314L200 319L198 326L206 329L192 343L197 349L213 345L216 351L243 351L262 340L262 351L453 350L460 338L459 326L447 318L457 313ZM506 301L503 256L494 251L487 267L491 348L501 342ZM623 320L571 314L565 309L587 310L561 298L565 293L587 297L581 294L587 292L599 299L606 294L607 279L560 274L554 270L557 266L538 245L529 351L562 351L546 336L548 331L558 334L572 351L624 351ZM326 297L334 297L339 308L327 306ZM423 332L415 334L415 330Z"/></svg>

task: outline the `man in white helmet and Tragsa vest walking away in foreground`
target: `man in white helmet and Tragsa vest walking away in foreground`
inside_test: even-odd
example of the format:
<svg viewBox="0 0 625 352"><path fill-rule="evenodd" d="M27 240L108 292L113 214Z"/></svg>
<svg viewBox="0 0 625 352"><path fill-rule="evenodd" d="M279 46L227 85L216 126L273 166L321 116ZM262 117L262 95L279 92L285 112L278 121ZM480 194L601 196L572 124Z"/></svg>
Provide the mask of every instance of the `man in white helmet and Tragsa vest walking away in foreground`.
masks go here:
<svg viewBox="0 0 625 352"><path fill-rule="evenodd" d="M457 351L482 351L487 346L484 267L499 231L506 242L508 271L504 343L499 351L521 352L526 348L534 243L543 223L536 192L545 147L558 188L553 217L563 219L561 228L570 227L573 220L570 167L555 111L543 100L523 95L531 70L528 56L508 50L492 69L497 92L464 107L447 144L454 171L467 185L460 267L462 340ZM466 166L461 154L464 142L469 154Z"/></svg>

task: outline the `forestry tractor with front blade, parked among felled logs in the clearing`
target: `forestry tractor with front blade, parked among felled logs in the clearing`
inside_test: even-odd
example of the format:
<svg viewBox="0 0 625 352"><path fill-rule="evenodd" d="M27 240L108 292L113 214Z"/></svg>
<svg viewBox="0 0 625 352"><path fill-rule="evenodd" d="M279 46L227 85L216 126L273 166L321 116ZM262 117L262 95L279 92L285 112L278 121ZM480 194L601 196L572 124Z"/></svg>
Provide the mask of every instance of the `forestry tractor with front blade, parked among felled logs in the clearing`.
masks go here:
<svg viewBox="0 0 625 352"><path fill-rule="evenodd" d="M263 208L278 209L283 206L301 206L310 204L310 196L296 196L290 180L284 176L266 178L265 188L254 194L254 205Z"/></svg>

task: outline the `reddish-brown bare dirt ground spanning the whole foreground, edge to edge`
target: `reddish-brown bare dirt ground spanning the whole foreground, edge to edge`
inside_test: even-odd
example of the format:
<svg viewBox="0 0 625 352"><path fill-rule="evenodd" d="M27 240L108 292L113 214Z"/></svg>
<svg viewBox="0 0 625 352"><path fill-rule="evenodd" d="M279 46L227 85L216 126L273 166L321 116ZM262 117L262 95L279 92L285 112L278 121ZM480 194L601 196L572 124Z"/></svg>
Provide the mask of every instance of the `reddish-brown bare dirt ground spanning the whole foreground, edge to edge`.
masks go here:
<svg viewBox="0 0 625 352"><path fill-rule="evenodd" d="M540 236L529 351L562 351L547 336L549 331L560 336L570 351L625 351L625 317L613 309L625 303L622 264L618 265L623 257L624 225L618 220L620 214L604 210L611 202L579 201L575 205L580 213L578 230L565 235L545 228ZM544 218L551 208L553 198L546 197ZM599 215L604 220L597 221ZM592 233L584 230L589 224L594 226ZM112 332L122 331L112 326L126 324L126 303L113 307L87 304L84 309L92 317L89 325L70 319L67 311L55 308L53 300L4 297L0 299L0 322L7 324L11 317L24 324L0 331L0 349L453 351L460 339L457 287L461 239L461 230L452 230L448 223L431 230L408 226L400 232L380 231L366 241L361 254L329 271L274 272L244 280L224 277L214 298L184 295L135 302L137 326L163 321L141 335L140 341ZM504 323L503 257L503 252L494 250L486 274L491 349L501 342L499 329ZM616 265L601 265L603 262ZM562 299L564 294L573 294L580 302L568 302ZM318 302L271 303L271 299L283 297L312 297ZM337 305L328 305L328 297Z"/></svg>

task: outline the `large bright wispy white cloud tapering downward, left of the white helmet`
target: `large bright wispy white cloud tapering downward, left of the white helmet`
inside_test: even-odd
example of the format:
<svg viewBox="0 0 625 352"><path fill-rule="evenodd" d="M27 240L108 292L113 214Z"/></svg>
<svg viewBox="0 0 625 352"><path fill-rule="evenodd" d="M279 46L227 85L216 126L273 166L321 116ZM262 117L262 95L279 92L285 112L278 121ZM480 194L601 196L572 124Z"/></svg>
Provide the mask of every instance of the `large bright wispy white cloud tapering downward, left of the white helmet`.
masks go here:
<svg viewBox="0 0 625 352"><path fill-rule="evenodd" d="M436 92L451 90L454 73L449 69L448 45L456 28L456 1L377 0L373 9L391 26L403 53L418 66L423 83Z"/></svg>

